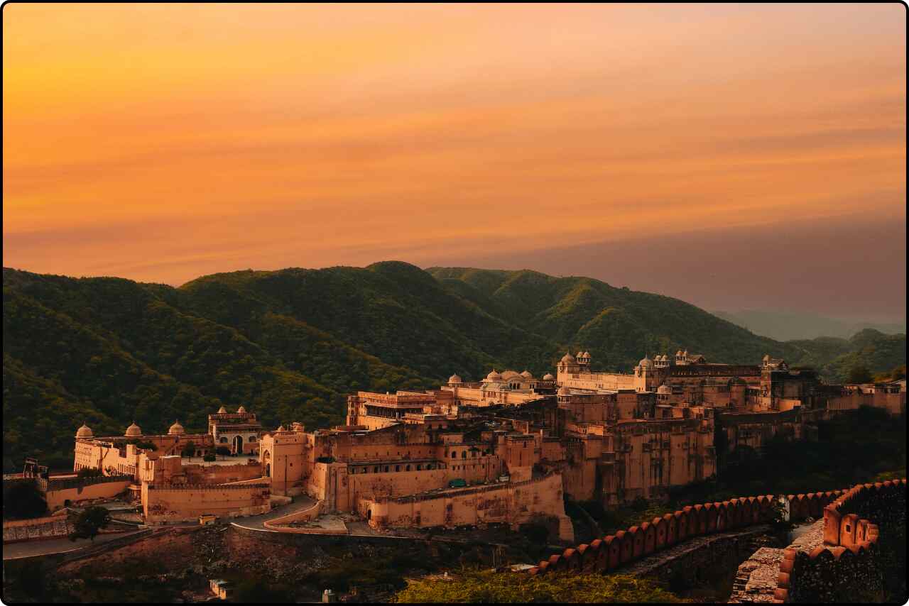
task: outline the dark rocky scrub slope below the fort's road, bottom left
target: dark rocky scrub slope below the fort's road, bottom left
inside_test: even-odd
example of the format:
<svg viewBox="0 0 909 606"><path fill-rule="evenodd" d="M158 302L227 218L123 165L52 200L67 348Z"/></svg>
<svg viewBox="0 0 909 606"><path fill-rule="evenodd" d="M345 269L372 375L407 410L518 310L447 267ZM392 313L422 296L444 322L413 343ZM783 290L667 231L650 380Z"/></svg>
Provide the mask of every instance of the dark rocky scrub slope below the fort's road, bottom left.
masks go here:
<svg viewBox="0 0 909 606"><path fill-rule="evenodd" d="M174 528L120 549L7 574L5 601L195 602L210 579L235 583L254 601L320 601L322 591L387 600L405 578L490 561L492 548L445 541L285 545L230 525Z"/></svg>

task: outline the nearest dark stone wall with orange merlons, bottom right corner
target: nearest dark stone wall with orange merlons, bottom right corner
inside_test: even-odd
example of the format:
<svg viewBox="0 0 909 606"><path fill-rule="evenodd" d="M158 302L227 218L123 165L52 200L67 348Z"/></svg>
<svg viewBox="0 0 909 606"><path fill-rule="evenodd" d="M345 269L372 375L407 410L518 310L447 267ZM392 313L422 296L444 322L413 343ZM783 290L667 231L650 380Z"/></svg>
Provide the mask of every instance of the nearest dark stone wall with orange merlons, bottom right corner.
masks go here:
<svg viewBox="0 0 909 606"><path fill-rule="evenodd" d="M823 541L786 549L774 601L868 601L883 589L882 535L905 540L906 481L858 484L823 508ZM901 536L898 534L902 532Z"/></svg>

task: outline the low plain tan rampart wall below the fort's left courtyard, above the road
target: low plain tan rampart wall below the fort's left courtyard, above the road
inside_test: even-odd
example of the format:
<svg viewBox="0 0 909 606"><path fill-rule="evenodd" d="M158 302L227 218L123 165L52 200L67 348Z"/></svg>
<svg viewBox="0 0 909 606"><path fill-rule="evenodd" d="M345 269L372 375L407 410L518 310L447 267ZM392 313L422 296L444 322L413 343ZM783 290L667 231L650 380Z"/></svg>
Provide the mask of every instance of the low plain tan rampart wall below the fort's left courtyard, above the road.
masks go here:
<svg viewBox="0 0 909 606"><path fill-rule="evenodd" d="M142 486L145 523L189 522L212 513L235 518L271 509L267 482L239 484L148 484Z"/></svg>

